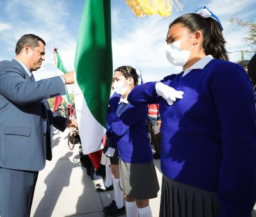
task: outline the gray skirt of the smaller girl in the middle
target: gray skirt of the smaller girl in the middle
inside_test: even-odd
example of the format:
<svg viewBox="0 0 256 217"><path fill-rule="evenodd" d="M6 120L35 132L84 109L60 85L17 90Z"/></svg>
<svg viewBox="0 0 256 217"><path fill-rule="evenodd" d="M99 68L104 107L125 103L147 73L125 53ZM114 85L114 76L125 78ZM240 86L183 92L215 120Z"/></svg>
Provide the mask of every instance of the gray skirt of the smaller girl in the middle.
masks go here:
<svg viewBox="0 0 256 217"><path fill-rule="evenodd" d="M119 160L120 189L125 195L138 200L156 198L159 183L154 162L125 163Z"/></svg>

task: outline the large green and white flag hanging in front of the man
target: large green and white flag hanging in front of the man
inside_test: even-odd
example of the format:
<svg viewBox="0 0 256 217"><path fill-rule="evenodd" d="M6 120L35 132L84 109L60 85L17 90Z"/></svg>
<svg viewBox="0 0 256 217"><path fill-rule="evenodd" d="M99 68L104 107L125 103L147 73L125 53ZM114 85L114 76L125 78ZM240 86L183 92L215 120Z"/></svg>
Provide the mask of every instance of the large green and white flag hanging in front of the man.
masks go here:
<svg viewBox="0 0 256 217"><path fill-rule="evenodd" d="M75 58L75 105L84 154L100 156L97 151L103 148L112 70L110 0L84 1Z"/></svg>

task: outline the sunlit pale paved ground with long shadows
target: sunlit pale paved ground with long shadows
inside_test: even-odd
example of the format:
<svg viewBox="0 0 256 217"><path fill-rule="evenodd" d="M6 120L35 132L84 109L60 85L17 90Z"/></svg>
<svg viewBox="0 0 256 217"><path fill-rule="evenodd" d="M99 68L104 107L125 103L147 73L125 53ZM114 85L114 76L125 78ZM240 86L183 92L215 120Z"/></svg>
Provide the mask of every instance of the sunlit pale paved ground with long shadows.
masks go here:
<svg viewBox="0 0 256 217"><path fill-rule="evenodd" d="M78 146L73 151L68 149L68 130L64 133L55 130L54 134L53 158L39 173L31 216L103 216L102 207L111 202L113 191L98 193L95 190L95 184L102 180L92 181L87 176L86 169L79 163ZM159 160L155 160L155 165L161 185ZM160 192L157 198L150 200L154 217L159 216ZM256 217L256 211L253 217Z"/></svg>

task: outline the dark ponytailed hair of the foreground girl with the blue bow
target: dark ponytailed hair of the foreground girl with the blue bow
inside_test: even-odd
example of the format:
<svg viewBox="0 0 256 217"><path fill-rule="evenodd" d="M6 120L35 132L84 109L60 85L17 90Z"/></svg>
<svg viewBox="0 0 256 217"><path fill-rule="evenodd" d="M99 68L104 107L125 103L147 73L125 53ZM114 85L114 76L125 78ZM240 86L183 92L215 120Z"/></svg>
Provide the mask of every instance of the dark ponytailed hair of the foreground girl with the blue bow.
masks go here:
<svg viewBox="0 0 256 217"><path fill-rule="evenodd" d="M226 41L216 20L211 17L204 18L196 13L188 13L175 19L170 24L169 29L174 24L181 24L183 27L187 27L191 33L195 33L198 30L202 31L205 54L212 55L216 59L228 61L227 50L225 49Z"/></svg>

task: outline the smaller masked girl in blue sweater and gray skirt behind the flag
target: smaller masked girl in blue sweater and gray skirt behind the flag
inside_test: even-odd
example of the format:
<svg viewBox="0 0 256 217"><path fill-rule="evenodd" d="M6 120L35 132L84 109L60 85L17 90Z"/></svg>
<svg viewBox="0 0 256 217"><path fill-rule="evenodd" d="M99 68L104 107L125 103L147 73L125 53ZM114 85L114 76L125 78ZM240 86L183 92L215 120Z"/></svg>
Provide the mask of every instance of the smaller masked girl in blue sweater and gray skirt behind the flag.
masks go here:
<svg viewBox="0 0 256 217"><path fill-rule="evenodd" d="M125 195L127 217L152 216L149 198L157 197L159 184L152 150L148 142L147 105L134 107L127 95L138 84L131 66L115 70L115 92L121 95L116 113L108 115L108 124L116 135L120 155L120 188Z"/></svg>

